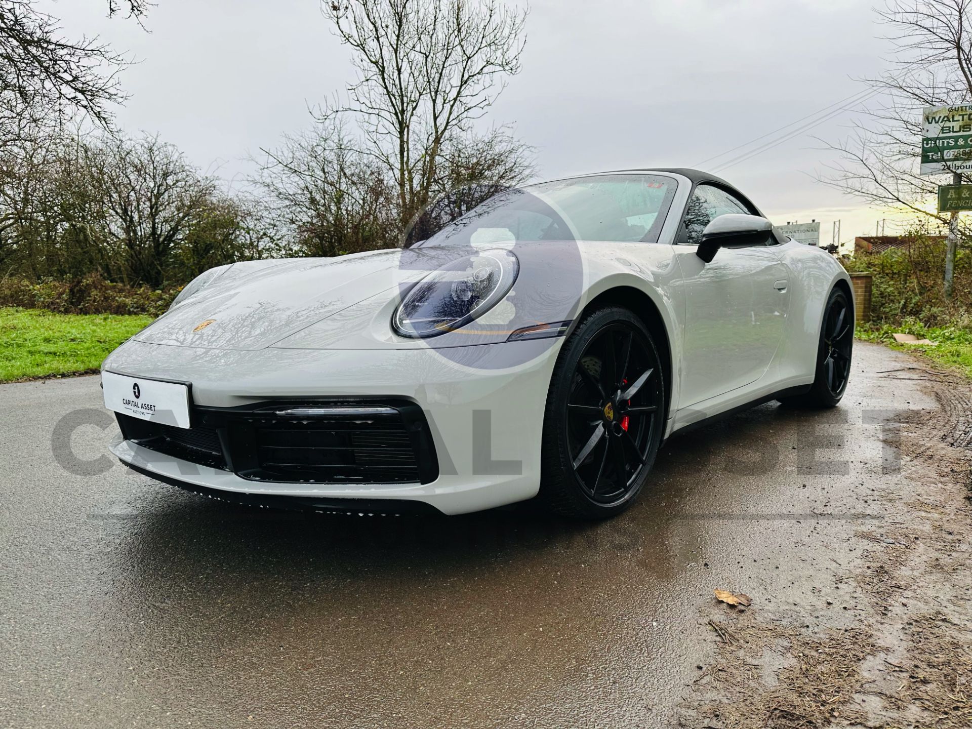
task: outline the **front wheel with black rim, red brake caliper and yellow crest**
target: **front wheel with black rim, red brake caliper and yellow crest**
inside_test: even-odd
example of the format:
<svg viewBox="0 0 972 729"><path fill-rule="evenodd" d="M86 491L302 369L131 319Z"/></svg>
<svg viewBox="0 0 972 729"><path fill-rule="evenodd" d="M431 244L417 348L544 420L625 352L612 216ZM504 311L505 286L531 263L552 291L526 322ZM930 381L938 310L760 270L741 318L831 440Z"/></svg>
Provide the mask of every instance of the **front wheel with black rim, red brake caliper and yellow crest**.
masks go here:
<svg viewBox="0 0 972 729"><path fill-rule="evenodd" d="M585 314L550 382L540 502L576 519L620 513L644 486L664 422L661 360L642 321L614 306Z"/></svg>

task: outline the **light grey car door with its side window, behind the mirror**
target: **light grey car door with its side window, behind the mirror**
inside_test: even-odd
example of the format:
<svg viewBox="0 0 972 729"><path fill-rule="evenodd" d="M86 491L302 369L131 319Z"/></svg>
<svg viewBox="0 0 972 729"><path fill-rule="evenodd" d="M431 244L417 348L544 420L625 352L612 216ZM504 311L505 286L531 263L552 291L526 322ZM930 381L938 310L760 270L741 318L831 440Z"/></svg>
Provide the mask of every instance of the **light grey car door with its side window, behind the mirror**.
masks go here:
<svg viewBox="0 0 972 729"><path fill-rule="evenodd" d="M709 263L695 255L705 227L728 213L758 215L733 191L699 184L676 235L684 301L679 409L755 382L781 341L789 292L776 239L723 247Z"/></svg>

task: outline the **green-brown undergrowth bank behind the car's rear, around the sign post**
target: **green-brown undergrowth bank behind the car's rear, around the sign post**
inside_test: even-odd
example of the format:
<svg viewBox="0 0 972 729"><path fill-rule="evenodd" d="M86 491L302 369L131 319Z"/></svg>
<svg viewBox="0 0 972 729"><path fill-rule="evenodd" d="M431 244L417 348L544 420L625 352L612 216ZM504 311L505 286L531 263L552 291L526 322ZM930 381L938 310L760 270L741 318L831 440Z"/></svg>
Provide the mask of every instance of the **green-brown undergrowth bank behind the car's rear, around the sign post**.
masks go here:
<svg viewBox="0 0 972 729"><path fill-rule="evenodd" d="M955 288L945 297L945 243L917 234L906 248L879 254L859 254L843 260L849 271L874 274L871 321L901 324L920 321L926 327L945 327L968 319L972 309L972 253L960 247L955 255Z"/></svg>

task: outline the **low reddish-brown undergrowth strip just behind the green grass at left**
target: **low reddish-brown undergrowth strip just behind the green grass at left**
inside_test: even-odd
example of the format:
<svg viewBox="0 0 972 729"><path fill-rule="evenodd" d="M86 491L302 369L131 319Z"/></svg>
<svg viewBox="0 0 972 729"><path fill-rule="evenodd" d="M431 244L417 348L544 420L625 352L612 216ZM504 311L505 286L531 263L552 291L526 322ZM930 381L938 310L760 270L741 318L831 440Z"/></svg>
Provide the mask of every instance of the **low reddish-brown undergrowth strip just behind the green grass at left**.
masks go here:
<svg viewBox="0 0 972 729"><path fill-rule="evenodd" d="M105 281L97 273L67 281L24 278L0 281L0 306L47 309L59 314L149 314L160 316L180 292Z"/></svg>

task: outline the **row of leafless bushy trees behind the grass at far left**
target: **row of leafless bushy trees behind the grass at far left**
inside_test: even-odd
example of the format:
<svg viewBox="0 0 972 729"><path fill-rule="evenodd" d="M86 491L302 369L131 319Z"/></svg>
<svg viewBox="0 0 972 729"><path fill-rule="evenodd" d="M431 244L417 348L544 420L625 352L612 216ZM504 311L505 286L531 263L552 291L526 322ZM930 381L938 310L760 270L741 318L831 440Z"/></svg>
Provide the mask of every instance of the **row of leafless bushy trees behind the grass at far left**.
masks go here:
<svg viewBox="0 0 972 729"><path fill-rule="evenodd" d="M156 137L65 133L0 151L0 277L185 283L275 253L272 220Z"/></svg>

